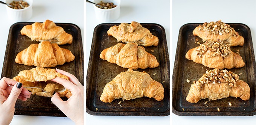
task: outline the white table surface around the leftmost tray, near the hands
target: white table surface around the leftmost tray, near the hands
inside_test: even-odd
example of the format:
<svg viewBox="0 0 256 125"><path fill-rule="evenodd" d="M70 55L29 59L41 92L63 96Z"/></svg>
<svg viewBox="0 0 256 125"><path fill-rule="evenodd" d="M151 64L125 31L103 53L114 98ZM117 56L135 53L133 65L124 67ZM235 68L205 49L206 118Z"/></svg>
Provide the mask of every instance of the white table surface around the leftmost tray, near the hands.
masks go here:
<svg viewBox="0 0 256 125"><path fill-rule="evenodd" d="M73 23L81 29L84 42L84 0L33 0L33 15L27 22ZM0 5L0 72L2 72L9 28L14 22L9 21L5 5ZM68 117L19 116L15 115L11 125L72 125Z"/></svg>

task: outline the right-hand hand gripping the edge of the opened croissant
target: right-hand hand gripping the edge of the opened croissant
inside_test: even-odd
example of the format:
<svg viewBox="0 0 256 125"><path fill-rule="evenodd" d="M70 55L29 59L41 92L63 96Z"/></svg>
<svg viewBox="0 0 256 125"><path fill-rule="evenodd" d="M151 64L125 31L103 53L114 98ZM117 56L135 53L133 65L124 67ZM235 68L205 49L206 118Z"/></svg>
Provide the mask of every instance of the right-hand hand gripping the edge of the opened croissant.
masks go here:
<svg viewBox="0 0 256 125"><path fill-rule="evenodd" d="M56 92L52 96L51 101L59 110L66 114L67 117L73 120L76 125L84 125L84 86L69 72L60 69L56 69L56 71L69 77L70 81L59 77L52 79L52 81L62 84L66 89L69 89L72 96L70 96L67 101L62 101L59 94Z"/></svg>

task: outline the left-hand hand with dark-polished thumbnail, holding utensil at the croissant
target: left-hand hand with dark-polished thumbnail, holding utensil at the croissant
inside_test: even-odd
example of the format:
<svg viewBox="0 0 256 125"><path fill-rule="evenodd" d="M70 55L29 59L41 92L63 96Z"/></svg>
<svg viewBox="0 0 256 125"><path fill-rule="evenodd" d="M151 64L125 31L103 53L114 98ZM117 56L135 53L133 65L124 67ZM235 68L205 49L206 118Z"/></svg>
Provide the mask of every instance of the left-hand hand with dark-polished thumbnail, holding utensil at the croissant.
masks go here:
<svg viewBox="0 0 256 125"><path fill-rule="evenodd" d="M3 77L0 80L0 125L9 125L14 116L17 99L26 101L30 95L31 92L23 88L22 83Z"/></svg>

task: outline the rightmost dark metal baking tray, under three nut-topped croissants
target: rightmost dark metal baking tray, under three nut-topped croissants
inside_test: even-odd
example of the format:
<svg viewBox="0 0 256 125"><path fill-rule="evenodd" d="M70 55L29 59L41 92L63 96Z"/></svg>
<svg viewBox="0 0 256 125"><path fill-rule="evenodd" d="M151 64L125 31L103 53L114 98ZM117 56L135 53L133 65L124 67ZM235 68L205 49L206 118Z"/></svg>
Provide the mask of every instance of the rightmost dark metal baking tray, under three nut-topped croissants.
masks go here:
<svg viewBox="0 0 256 125"><path fill-rule="evenodd" d="M192 31L200 23L185 24L180 28L176 57L174 62L174 70L172 75L172 112L177 115L184 116L252 116L256 114L256 98L255 98L255 57L253 51L253 43L251 39L251 31L248 26L241 23L228 23L233 27L239 35L244 37L244 45L231 47L231 50L236 53L240 50L240 55L245 62L242 68L228 69L239 75L239 79L244 80L250 87L250 99L243 101L240 98L229 97L216 101L209 101L202 99L197 103L190 103L186 101L186 96L189 92L193 81L197 81L207 70L201 64L194 63L185 58L186 52L194 47L199 46L195 43L195 39L202 39L198 36L193 36ZM203 24L203 23L201 23ZM186 79L190 80L187 83ZM207 104L204 104L208 101ZM232 103L229 106L228 102ZM217 108L220 111L217 111ZM184 109L184 111L183 111Z"/></svg>

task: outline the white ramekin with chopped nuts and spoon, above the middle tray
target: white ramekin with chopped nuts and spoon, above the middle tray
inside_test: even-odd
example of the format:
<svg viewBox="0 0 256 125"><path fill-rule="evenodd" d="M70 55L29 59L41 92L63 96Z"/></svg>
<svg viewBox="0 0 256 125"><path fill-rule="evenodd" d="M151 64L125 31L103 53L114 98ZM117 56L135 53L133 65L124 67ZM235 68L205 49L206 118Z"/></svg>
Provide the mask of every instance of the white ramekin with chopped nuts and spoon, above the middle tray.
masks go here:
<svg viewBox="0 0 256 125"><path fill-rule="evenodd" d="M94 3L103 8L93 5L96 18L102 23L113 22L120 16L121 0L93 0Z"/></svg>

